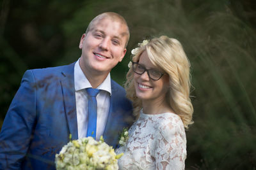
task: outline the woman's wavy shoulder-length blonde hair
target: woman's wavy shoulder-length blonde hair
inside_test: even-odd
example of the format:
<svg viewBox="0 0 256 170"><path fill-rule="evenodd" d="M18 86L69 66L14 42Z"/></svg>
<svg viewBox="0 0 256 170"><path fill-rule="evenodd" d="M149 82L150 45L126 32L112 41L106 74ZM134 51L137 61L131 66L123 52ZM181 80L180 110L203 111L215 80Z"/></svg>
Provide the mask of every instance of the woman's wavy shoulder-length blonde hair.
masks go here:
<svg viewBox="0 0 256 170"><path fill-rule="evenodd" d="M189 98L191 87L189 60L177 39L161 36L153 38L147 45L138 48L136 55L132 57L133 62L140 60L140 55L147 51L148 58L157 67L164 70L169 75L170 88L166 94L166 100L173 111L179 115L184 127L188 129L189 124L193 124L193 106ZM125 90L127 98L131 99L134 107L134 115L138 117L142 108L141 100L136 96L134 81L134 73L130 67L125 82Z"/></svg>

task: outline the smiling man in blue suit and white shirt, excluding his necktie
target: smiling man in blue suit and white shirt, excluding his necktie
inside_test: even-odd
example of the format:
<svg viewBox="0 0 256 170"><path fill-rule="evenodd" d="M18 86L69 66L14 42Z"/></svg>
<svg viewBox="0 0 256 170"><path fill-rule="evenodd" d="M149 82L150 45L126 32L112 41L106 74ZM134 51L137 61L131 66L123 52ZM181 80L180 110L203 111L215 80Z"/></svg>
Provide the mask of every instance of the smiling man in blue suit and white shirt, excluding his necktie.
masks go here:
<svg viewBox="0 0 256 170"><path fill-rule="evenodd" d="M132 123L132 106L109 72L124 58L128 40L124 18L102 13L81 37L77 62L24 73L1 129L0 169L55 169L55 154L70 134L77 139L94 133L116 146L118 132ZM100 90L92 134L89 88Z"/></svg>

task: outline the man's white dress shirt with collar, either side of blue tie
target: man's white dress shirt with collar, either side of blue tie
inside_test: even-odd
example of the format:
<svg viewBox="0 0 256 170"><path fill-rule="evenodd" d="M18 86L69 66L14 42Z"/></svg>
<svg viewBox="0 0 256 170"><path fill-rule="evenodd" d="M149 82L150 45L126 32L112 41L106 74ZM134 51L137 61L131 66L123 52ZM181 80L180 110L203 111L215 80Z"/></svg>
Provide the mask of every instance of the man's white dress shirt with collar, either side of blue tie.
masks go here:
<svg viewBox="0 0 256 170"><path fill-rule="evenodd" d="M80 60L80 59L79 59ZM88 127L88 94L86 88L92 87L86 76L84 75L77 60L74 67L74 81L76 90L76 113L77 113L77 132L78 138L86 137ZM97 95L97 130L96 139L99 140L100 136L106 127L108 120L109 103L111 96L111 78L110 73L106 79L97 87L100 89Z"/></svg>

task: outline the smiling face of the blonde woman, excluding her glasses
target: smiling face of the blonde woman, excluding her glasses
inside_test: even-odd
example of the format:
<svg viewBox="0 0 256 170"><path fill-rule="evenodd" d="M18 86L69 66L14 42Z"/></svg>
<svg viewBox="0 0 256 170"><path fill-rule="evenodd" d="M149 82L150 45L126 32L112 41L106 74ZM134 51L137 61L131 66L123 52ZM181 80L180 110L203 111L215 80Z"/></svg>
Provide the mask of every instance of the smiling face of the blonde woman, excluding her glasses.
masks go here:
<svg viewBox="0 0 256 170"><path fill-rule="evenodd" d="M146 69L164 73L159 67L154 66L148 58L147 51L141 53L138 62ZM134 73L134 86L136 96L142 101L163 102L169 87L168 74L164 74L159 80L149 78L147 71L143 74Z"/></svg>

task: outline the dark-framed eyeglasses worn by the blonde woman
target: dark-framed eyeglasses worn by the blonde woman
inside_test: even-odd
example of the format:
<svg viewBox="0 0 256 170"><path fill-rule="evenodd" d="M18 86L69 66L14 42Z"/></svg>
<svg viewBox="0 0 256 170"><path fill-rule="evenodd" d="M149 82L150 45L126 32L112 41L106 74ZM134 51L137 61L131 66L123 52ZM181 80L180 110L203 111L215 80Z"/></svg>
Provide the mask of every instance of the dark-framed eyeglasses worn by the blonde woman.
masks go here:
<svg viewBox="0 0 256 170"><path fill-rule="evenodd" d="M147 71L148 77L151 78L152 80L159 80L164 74L154 69L146 69L144 66L142 66L138 62L132 62L132 71L140 75L143 74L145 71Z"/></svg>

